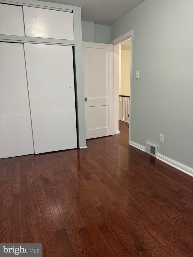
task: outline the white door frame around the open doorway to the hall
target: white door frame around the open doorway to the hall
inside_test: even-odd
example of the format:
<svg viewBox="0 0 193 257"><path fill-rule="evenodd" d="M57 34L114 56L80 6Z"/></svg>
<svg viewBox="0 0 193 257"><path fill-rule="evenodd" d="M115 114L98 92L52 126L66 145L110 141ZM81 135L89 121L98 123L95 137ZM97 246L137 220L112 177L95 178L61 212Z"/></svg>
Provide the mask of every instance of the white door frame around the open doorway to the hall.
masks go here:
<svg viewBox="0 0 193 257"><path fill-rule="evenodd" d="M113 39L110 44L113 46L113 134L120 134L119 131L119 55L117 44L131 37L131 77L130 77L130 99L129 99L129 142L131 142L131 101L132 101L132 82L133 82L133 30Z"/></svg>

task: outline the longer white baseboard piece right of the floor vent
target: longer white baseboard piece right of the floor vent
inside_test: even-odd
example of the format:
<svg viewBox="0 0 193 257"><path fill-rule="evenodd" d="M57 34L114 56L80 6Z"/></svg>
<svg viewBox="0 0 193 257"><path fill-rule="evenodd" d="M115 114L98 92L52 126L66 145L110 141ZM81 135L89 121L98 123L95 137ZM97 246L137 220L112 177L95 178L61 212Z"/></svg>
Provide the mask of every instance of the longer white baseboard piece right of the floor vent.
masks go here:
<svg viewBox="0 0 193 257"><path fill-rule="evenodd" d="M164 155L161 155L159 153L157 153L156 158L193 177L193 169L191 169L190 167L183 165L180 162L174 161L174 160L172 160Z"/></svg>

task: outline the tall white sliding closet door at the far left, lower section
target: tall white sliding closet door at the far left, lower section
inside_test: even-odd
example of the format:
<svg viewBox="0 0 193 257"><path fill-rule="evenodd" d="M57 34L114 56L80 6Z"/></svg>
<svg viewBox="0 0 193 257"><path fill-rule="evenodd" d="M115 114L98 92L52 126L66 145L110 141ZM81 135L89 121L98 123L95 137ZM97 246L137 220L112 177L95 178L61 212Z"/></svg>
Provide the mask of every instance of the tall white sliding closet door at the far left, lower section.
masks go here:
<svg viewBox="0 0 193 257"><path fill-rule="evenodd" d="M32 153L24 45L0 42L0 158Z"/></svg>

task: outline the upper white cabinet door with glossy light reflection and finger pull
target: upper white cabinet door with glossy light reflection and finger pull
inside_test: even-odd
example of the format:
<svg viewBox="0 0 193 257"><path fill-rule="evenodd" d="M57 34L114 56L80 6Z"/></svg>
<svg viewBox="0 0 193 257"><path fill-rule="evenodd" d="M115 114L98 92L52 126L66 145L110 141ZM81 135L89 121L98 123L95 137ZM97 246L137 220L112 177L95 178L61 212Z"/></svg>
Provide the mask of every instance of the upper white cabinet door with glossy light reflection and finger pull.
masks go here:
<svg viewBox="0 0 193 257"><path fill-rule="evenodd" d="M73 13L24 6L26 36L74 40Z"/></svg>

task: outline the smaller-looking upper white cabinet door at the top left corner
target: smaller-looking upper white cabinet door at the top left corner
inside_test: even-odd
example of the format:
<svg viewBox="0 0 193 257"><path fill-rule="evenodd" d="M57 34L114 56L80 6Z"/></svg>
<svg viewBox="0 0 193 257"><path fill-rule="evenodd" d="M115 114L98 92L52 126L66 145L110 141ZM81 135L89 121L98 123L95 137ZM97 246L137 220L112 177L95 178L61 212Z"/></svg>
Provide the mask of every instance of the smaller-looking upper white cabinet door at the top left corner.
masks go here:
<svg viewBox="0 0 193 257"><path fill-rule="evenodd" d="M25 36L22 6L0 4L0 34Z"/></svg>

